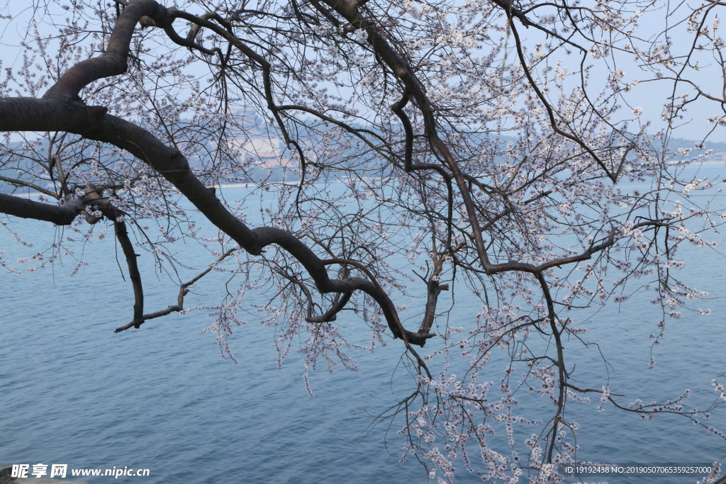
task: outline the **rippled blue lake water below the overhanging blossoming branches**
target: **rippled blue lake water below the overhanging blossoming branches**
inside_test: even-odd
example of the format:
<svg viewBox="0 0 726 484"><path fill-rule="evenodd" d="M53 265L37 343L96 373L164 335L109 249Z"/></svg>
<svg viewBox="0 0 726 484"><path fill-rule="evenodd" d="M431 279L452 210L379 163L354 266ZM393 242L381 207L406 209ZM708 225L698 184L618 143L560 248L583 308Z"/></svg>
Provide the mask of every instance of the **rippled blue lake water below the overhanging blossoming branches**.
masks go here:
<svg viewBox="0 0 726 484"><path fill-rule="evenodd" d="M227 190L230 199L242 196L234 190L243 189ZM36 247L54 238L47 223L14 220L10 226ZM398 424L387 432L386 422L370 427L374 420L367 417L384 411L411 388L399 365L399 342L389 341L372 354L352 352L358 372L312 372L315 398L310 398L301 357L290 356L277 369L274 328L255 324L261 319L255 313L230 339L237 364L221 358L215 335L200 334L212 323L203 311L172 314L114 334L113 329L131 319L133 304L130 284L123 282L115 263L114 239L77 249L84 251L89 266L73 277L68 276L74 266L70 258L54 271L0 274L0 464L150 469L149 477L76 478L93 484L427 482L415 460L397 464L402 445L395 432ZM185 261L196 265L190 275L209 262L194 259L197 249L179 245ZM14 263L34 248L19 247L1 229L0 250ZM656 332L660 308L648 298L635 298L621 308L609 304L584 324L588 338L600 342L610 364L613 392L625 393L626 403L662 400L690 388L693 396L686 407L704 408L717 397L711 379L726 383L726 261L707 250L686 249L680 255L694 255L684 279L709 290L714 299L700 306L713 313L685 313L667 321L666 337L654 349L655 369L647 369L648 335ZM167 276L151 275L147 253L141 259L146 311L166 308L174 303L177 289ZM223 284L221 274L210 274L185 304L203 304L205 298L219 302ZM452 319L472 318L478 307L474 305L463 295ZM370 341L370 330L359 321L338 322L351 340ZM431 341L425 353L436 345ZM583 386L603 385L605 364L597 350L585 350L575 341L566 343L566 350L568 361L577 365L576 380ZM497 383L504 365L505 359L493 358L492 380ZM542 398L523 398L529 413L520 414L547 418L551 409L546 405ZM683 417L661 415L644 422L612 406L604 412L596 406L568 403L571 419L581 424L577 443L583 461L710 463L726 454L724 440ZM719 407L711 417L722 430L725 410ZM515 438L521 441L536 432L515 427ZM460 462L458 467L457 482L481 482ZM597 480L660 484L697 479Z"/></svg>

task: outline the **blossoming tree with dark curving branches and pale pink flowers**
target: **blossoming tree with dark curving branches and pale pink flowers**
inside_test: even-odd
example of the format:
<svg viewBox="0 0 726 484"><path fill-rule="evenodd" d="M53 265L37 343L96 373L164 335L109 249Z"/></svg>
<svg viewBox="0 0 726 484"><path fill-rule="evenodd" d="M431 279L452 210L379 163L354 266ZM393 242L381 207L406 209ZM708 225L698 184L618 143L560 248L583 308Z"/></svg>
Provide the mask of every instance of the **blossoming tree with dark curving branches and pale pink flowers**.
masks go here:
<svg viewBox="0 0 726 484"><path fill-rule="evenodd" d="M457 468L562 482L556 464L576 460L573 402L644 418L702 413L684 410L688 393L628 403L608 382L576 385L563 342L587 343L578 324L588 308L647 290L663 308L658 343L666 319L705 294L678 279L676 253L712 247L706 234L725 215L716 182L685 176L708 152L669 144L674 128L701 121L691 107L716 109L714 130L726 124L720 7L49 3L32 11L21 65L0 83L0 212L80 239L113 226L134 298L117 332L189 311L189 287L213 270L239 281L212 308L224 352L245 295L262 290L281 358L302 340L306 366L354 369L346 352L360 345L335 321L355 315L372 331L365 348L401 340L414 375L415 391L381 415L398 417L403 459L440 482ZM633 102L643 86L665 93L659 127ZM264 225L252 228L245 200L226 200L223 184L248 184L250 200L274 190ZM27 189L40 199L21 197ZM218 238L200 235L200 217ZM182 237L208 250L209 268L149 312L136 252L183 263L170 248ZM63 243L26 263L50 266ZM478 305L454 326L447 314L462 292ZM420 307L396 306L419 294ZM404 309L417 328L404 327ZM494 377L499 350L510 365ZM518 413L520 388L554 405L539 435L515 443L513 427L537 423ZM510 445L490 445L486 422L503 422Z"/></svg>

